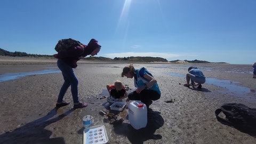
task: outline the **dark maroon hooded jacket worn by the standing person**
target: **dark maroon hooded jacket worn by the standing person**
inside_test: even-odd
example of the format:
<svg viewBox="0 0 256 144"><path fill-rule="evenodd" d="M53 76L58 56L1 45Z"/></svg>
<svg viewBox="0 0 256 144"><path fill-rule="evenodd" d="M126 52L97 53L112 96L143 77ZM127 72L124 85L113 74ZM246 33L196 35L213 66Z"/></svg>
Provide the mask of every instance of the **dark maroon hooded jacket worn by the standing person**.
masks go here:
<svg viewBox="0 0 256 144"><path fill-rule="evenodd" d="M84 46L84 51L81 46L73 46L70 47L67 51L61 51L57 54L57 59L61 59L71 68L76 68L76 62L79 60L79 57L86 57L87 55L91 54L95 49L101 47L98 44L96 39L91 39L91 41L87 45Z"/></svg>

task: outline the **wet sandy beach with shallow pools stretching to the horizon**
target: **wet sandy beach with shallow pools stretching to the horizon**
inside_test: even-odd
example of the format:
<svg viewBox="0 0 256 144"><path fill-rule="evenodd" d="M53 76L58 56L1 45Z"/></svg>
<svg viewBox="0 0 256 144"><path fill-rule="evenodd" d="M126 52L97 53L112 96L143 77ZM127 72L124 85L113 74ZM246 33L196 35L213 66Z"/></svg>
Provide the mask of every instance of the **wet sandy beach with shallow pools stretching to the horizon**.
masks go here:
<svg viewBox="0 0 256 144"><path fill-rule="evenodd" d="M0 76L54 69L57 59L0 57ZM256 139L217 121L214 111L224 103L243 103L256 108L256 79L251 65L134 63L145 67L156 78L161 98L153 101L145 128L134 130L129 124L128 108L111 111L106 85L120 80L134 89L133 79L121 77L130 62L85 61L74 69L79 80L81 102L89 106L73 110L70 89L65 101L70 105L55 110L61 73L31 74L0 81L0 143L83 143L85 115L93 116L93 125L104 125L108 143L256 143ZM201 90L185 87L189 66L203 70L209 78ZM212 83L210 83L212 82ZM227 83L223 85L223 83ZM230 88L231 87L231 88ZM124 119L113 124L100 110Z"/></svg>

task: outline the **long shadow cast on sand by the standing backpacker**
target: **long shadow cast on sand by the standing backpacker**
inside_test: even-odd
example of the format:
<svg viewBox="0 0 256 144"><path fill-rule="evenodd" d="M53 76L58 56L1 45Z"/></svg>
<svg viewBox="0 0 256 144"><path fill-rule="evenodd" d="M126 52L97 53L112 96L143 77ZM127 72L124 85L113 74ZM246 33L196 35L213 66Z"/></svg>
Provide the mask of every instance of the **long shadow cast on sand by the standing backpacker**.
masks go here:
<svg viewBox="0 0 256 144"><path fill-rule="evenodd" d="M27 123L13 130L12 132L6 132L4 134L1 134L0 143L65 143L65 140L62 137L50 138L52 132L49 130L45 130L44 127L59 121L63 117L70 114L72 111L74 111L74 109L70 109L63 114L50 119L51 117L57 115L57 110L54 108L42 118Z"/></svg>

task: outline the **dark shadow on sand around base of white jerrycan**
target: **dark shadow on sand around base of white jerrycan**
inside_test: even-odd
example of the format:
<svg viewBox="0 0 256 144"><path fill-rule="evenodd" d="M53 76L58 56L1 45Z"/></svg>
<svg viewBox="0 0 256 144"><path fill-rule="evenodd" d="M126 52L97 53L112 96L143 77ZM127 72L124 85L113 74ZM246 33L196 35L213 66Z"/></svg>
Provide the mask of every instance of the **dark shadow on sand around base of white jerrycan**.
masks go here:
<svg viewBox="0 0 256 144"><path fill-rule="evenodd" d="M120 135L126 135L131 143L143 143L149 139L162 139L162 135L154 134L157 129L164 125L164 119L158 111L148 111L147 126L135 130L130 124L123 123L114 127L114 132Z"/></svg>

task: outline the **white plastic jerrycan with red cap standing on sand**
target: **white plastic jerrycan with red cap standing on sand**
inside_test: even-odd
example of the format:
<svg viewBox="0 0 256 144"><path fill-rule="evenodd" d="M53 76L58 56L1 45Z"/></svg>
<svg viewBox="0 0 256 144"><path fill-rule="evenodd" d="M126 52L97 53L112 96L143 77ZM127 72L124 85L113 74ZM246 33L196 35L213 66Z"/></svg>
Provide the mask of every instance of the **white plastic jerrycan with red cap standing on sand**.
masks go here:
<svg viewBox="0 0 256 144"><path fill-rule="evenodd" d="M134 101L129 104L129 122L136 130L147 126L147 106L143 102Z"/></svg>

